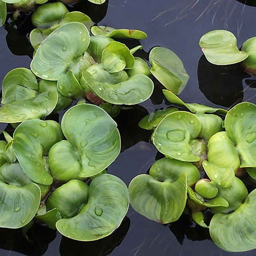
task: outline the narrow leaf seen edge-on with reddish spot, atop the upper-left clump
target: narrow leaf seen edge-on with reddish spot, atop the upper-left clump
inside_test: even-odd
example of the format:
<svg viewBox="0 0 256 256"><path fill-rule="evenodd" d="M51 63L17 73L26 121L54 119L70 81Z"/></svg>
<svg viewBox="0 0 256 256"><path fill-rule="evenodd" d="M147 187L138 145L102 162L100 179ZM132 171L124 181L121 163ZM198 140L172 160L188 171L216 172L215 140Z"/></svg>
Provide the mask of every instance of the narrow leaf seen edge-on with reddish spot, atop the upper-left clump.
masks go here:
<svg viewBox="0 0 256 256"><path fill-rule="evenodd" d="M94 26L91 28L92 35L94 36L107 36L113 38L133 38L145 39L147 34L140 30L135 29L115 29L105 26Z"/></svg>

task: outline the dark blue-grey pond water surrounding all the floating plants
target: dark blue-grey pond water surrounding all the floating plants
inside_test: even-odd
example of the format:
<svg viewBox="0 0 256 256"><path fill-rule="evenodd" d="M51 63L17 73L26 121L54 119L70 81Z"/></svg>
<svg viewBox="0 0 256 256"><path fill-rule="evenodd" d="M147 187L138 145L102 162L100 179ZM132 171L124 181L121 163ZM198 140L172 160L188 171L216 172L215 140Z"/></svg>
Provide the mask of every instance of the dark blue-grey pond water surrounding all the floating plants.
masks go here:
<svg viewBox="0 0 256 256"><path fill-rule="evenodd" d="M81 3L71 9L82 10L98 25L145 31L148 38L141 40L144 51L138 53L140 56L147 58L151 48L162 46L174 51L182 60L190 76L180 94L184 102L229 108L241 101L256 103L255 77L243 72L239 65L216 67L208 63L198 42L210 30L227 29L236 35L238 46L241 46L246 39L255 36L254 5L256 1L242 0L109 0L101 6ZM33 50L27 35L31 29L30 15L21 15L19 20L0 28L0 81L13 68L29 67ZM134 43L137 42L130 42ZM121 133L122 152L108 172L127 185L134 176L146 173L159 158L150 143L151 132L140 129L138 122L148 112L163 107L166 103L161 86L156 84L150 100L122 111L115 118ZM0 129L5 126L1 124ZM28 240L20 230L0 229L0 248L1 256L249 256L256 253L256 250L224 252L213 244L207 229L194 225L184 216L171 225L161 225L144 218L131 207L117 231L100 241L72 241L56 231L34 225L28 232Z"/></svg>

